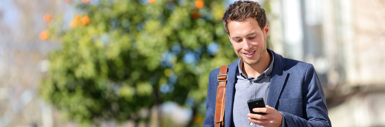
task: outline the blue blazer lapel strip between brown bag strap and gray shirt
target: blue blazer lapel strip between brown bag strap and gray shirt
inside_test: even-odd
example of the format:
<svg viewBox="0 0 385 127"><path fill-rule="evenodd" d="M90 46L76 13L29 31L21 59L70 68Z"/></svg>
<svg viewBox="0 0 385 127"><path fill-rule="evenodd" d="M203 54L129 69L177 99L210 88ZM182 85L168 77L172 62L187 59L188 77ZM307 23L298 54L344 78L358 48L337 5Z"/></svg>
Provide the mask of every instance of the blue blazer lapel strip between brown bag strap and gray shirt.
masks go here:
<svg viewBox="0 0 385 127"><path fill-rule="evenodd" d="M236 72L238 71L239 58L228 66L227 85L226 85L226 101L224 104L224 126L230 127L233 121L233 102L234 87L236 81Z"/></svg>

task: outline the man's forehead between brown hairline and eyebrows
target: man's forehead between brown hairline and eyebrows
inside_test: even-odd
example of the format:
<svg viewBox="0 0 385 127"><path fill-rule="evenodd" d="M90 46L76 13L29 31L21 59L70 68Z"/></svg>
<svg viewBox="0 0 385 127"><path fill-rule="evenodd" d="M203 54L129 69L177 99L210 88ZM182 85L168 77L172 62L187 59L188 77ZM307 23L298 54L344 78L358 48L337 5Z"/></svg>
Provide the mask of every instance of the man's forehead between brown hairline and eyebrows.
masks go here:
<svg viewBox="0 0 385 127"><path fill-rule="evenodd" d="M241 21L229 21L228 30L230 36L244 36L252 32L262 32L258 21L254 18Z"/></svg>

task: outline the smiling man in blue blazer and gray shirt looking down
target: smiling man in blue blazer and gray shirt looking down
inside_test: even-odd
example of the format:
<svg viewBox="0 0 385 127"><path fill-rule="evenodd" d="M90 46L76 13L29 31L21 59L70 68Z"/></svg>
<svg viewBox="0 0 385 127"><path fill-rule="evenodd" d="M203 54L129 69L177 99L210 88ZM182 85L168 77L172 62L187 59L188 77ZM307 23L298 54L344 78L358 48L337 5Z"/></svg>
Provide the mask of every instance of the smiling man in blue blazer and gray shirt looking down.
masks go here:
<svg viewBox="0 0 385 127"><path fill-rule="evenodd" d="M256 2L236 1L223 25L239 57L228 66L225 127L331 127L325 94L313 65L283 58L266 48L269 27ZM211 71L204 127L214 127L219 69ZM247 101L263 97L266 107L250 114Z"/></svg>

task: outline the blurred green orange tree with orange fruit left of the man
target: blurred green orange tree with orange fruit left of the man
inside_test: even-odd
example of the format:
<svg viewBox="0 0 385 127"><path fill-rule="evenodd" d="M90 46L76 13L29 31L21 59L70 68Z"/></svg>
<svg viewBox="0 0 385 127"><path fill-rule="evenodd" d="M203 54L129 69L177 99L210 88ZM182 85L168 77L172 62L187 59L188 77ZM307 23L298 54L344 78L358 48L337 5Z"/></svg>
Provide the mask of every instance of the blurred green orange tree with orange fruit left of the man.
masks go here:
<svg viewBox="0 0 385 127"><path fill-rule="evenodd" d="M40 95L84 126L148 122L138 111L166 101L203 120L210 71L238 58L222 24L226 1L203 2L72 1L79 15L50 23L49 40L61 48L49 55Z"/></svg>

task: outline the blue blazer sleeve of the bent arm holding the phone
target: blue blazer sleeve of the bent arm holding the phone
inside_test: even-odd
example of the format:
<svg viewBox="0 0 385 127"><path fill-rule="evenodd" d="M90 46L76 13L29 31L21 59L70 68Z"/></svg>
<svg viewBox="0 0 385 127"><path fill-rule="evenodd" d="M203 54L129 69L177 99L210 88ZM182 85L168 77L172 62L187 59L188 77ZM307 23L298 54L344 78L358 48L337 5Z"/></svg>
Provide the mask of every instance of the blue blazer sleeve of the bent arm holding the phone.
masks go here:
<svg viewBox="0 0 385 127"><path fill-rule="evenodd" d="M331 127L325 94L312 64L306 69L302 92L303 118L282 112L287 127Z"/></svg>

